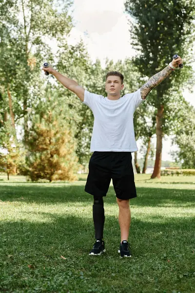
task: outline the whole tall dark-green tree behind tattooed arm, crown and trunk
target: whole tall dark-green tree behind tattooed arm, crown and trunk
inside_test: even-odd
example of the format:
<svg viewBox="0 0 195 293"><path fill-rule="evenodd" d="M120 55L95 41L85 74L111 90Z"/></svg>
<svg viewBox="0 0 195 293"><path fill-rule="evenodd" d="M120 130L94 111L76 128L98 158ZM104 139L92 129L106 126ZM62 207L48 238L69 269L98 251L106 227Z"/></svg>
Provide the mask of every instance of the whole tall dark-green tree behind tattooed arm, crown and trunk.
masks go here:
<svg viewBox="0 0 195 293"><path fill-rule="evenodd" d="M139 53L134 63L142 76L151 77L159 72L175 53L185 59L183 70L176 70L147 98L148 103L156 107L156 161L151 178L159 178L162 138L165 134L174 133L169 125L177 119L173 113L177 112L179 104L178 92L184 87L192 87L194 80L191 63L195 40L195 1L165 0L156 3L153 0L126 0L125 9L134 18L131 23L132 44Z"/></svg>

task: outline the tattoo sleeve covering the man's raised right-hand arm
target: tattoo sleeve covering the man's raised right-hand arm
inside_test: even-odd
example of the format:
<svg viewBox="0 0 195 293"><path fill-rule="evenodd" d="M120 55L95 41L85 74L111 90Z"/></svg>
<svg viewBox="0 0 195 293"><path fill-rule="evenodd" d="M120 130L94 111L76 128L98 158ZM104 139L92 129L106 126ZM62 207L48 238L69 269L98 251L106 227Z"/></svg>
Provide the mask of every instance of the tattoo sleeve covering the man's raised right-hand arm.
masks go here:
<svg viewBox="0 0 195 293"><path fill-rule="evenodd" d="M144 84L144 85L142 85L142 87L140 87L141 98L143 100L145 100L147 95L149 94L149 92L154 87L156 87L158 84L160 84L167 76L169 76L172 71L173 70L168 65L162 71L160 71L160 72L156 73L154 76L152 76L146 84Z"/></svg>

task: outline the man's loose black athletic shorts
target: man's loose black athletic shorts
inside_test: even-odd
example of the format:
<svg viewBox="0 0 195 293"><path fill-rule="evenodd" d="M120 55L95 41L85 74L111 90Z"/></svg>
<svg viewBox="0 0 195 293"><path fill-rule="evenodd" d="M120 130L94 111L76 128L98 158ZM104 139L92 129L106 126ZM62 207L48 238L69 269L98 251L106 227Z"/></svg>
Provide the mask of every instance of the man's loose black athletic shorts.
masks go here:
<svg viewBox="0 0 195 293"><path fill-rule="evenodd" d="M137 197L131 152L95 151L89 161L85 191L106 196L111 178L119 199Z"/></svg>

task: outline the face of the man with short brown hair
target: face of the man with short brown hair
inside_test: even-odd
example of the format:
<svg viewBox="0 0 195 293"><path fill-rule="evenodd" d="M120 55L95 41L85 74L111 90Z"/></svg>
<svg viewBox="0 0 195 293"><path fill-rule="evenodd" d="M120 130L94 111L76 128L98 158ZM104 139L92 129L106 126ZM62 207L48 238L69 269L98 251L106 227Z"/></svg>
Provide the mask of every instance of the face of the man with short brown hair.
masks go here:
<svg viewBox="0 0 195 293"><path fill-rule="evenodd" d="M121 84L121 80L119 76L111 75L108 76L107 81L106 81L106 92L110 96L117 96L120 94L120 91L123 89L124 84Z"/></svg>

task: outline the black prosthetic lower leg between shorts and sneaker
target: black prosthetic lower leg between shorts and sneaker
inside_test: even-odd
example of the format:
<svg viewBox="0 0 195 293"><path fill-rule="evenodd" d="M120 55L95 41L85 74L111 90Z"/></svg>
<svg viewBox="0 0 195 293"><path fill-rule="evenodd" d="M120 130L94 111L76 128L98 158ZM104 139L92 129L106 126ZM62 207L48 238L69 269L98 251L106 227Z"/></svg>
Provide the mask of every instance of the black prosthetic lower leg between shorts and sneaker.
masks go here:
<svg viewBox="0 0 195 293"><path fill-rule="evenodd" d="M95 228L95 238L100 240L103 238L103 228L104 228L104 221L105 221L102 197L94 196L93 219L94 219L94 228Z"/></svg>

